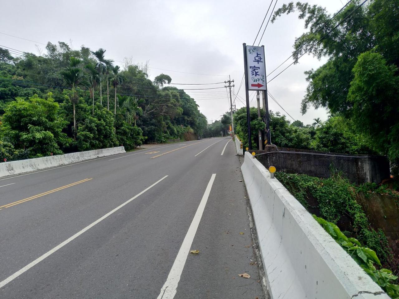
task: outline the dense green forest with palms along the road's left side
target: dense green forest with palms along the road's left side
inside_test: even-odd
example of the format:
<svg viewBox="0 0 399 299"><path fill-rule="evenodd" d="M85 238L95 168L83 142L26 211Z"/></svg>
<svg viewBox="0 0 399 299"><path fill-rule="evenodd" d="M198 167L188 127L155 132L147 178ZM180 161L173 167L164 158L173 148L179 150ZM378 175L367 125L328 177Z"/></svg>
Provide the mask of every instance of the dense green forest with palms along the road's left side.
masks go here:
<svg viewBox="0 0 399 299"><path fill-rule="evenodd" d="M195 100L166 86L168 75L148 79L148 64L119 67L104 49L64 42L45 51L0 48L1 161L223 132L208 130Z"/></svg>

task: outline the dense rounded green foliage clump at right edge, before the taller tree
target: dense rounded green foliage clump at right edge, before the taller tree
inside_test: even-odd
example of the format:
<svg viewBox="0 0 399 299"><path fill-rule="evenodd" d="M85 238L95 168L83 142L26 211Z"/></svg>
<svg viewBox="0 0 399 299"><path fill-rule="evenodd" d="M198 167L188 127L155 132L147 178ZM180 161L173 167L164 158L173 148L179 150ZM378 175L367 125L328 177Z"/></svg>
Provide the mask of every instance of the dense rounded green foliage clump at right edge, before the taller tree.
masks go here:
<svg viewBox="0 0 399 299"><path fill-rule="evenodd" d="M380 53L367 51L359 55L353 73L348 102L357 131L369 134L377 151L399 160L398 67L387 64Z"/></svg>

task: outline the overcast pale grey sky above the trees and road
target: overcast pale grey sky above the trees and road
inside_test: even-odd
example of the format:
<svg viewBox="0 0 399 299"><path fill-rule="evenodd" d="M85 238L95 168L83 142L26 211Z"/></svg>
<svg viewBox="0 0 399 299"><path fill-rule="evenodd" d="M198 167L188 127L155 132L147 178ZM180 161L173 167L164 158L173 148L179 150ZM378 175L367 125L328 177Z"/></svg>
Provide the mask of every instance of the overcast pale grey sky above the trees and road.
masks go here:
<svg viewBox="0 0 399 299"><path fill-rule="evenodd" d="M342 7L341 0L309 2L325 6L332 14ZM284 3L288 1L278 1L276 9ZM228 80L231 75L237 92L244 70L242 44L253 43L269 4L270 0L3 1L0 32L44 44L65 41L71 42L74 48L85 45L96 50L102 47L107 50L107 57L120 65L118 61L124 57L133 57L136 63L149 60L150 79L166 73L172 77L172 83L215 83ZM261 41L261 45L265 45L267 72L291 55L295 37L304 32L304 22L297 16L284 15L268 25ZM259 38L256 44L258 41ZM38 52L37 47L45 47L4 34L0 34L0 45L34 53ZM311 124L316 117L327 118L324 109L310 108L303 116L300 113L300 102L307 86L303 72L316 69L322 62L305 55L299 64L292 65L268 85L281 106L305 124ZM223 85L187 86L187 89L217 86ZM229 110L225 89L186 92L196 99L209 122ZM239 96L245 99L244 88ZM253 92L250 92L252 98ZM238 99L235 104L237 108L244 106ZM251 106L256 106L256 98ZM285 114L271 99L269 108Z"/></svg>

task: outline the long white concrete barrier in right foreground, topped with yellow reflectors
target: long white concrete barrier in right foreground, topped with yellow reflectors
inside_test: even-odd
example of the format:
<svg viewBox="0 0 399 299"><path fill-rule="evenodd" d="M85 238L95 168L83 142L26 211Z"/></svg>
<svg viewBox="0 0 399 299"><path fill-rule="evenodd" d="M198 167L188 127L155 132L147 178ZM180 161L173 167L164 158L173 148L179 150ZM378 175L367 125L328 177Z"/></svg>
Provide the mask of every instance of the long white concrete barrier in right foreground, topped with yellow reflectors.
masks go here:
<svg viewBox="0 0 399 299"><path fill-rule="evenodd" d="M241 171L272 299L389 299L248 152Z"/></svg>

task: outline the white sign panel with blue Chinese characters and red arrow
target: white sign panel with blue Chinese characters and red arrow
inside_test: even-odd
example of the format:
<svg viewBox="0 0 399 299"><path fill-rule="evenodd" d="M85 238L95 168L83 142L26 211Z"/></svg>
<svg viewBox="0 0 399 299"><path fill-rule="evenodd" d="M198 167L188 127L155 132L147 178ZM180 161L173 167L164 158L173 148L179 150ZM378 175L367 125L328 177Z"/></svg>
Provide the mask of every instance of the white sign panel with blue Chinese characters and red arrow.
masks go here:
<svg viewBox="0 0 399 299"><path fill-rule="evenodd" d="M248 90L266 90L265 48L247 45Z"/></svg>

